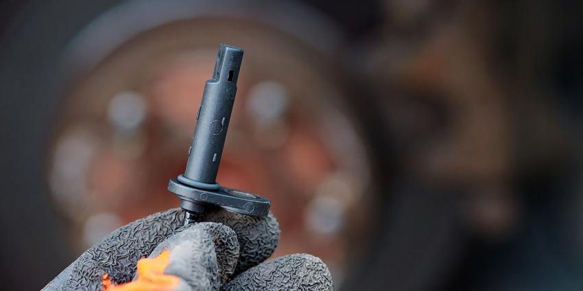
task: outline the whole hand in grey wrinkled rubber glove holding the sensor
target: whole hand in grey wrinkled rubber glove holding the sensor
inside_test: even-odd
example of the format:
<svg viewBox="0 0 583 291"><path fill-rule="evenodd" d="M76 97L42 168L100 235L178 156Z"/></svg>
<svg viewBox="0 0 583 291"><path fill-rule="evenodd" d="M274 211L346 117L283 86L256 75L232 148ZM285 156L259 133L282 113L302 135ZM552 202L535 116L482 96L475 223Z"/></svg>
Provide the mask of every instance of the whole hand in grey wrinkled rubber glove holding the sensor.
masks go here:
<svg viewBox="0 0 583 291"><path fill-rule="evenodd" d="M274 252L279 227L263 218L215 210L182 226L168 210L120 227L88 249L43 290L332 290L326 265L307 254L262 263ZM105 286L104 286L105 283ZM124 289L125 288L125 289Z"/></svg>

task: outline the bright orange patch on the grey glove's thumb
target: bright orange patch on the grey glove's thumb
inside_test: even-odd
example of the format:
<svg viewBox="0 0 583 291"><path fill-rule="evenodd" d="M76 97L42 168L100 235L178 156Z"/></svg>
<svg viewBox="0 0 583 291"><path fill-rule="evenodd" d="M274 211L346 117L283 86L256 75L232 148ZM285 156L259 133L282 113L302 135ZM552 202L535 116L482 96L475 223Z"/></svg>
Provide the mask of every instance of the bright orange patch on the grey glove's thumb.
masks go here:
<svg viewBox="0 0 583 291"><path fill-rule="evenodd" d="M170 252L163 251L158 257L138 261L136 281L114 285L106 274L103 277L106 291L171 291L178 286L180 278L164 274L170 262Z"/></svg>

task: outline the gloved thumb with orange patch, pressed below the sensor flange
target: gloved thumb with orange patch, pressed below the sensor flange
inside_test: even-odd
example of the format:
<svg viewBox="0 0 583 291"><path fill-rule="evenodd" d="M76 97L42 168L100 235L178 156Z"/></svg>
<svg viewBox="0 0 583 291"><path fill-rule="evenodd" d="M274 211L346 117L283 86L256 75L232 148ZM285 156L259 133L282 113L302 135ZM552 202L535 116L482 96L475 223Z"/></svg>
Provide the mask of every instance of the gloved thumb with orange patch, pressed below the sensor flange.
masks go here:
<svg viewBox="0 0 583 291"><path fill-rule="evenodd" d="M159 244L139 260L137 278L107 291L219 290L235 272L239 242L233 229L219 223L196 223Z"/></svg>

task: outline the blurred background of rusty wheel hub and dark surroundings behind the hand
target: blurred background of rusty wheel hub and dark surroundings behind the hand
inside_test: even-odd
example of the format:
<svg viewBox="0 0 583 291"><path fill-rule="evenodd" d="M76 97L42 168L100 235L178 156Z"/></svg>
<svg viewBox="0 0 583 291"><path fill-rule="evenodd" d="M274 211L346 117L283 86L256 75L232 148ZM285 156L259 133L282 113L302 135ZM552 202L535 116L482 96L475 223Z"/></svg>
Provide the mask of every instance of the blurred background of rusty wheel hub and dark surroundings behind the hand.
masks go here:
<svg viewBox="0 0 583 291"><path fill-rule="evenodd" d="M336 290L583 288L576 1L0 3L0 280L40 289L178 206L219 44L245 51L218 181Z"/></svg>

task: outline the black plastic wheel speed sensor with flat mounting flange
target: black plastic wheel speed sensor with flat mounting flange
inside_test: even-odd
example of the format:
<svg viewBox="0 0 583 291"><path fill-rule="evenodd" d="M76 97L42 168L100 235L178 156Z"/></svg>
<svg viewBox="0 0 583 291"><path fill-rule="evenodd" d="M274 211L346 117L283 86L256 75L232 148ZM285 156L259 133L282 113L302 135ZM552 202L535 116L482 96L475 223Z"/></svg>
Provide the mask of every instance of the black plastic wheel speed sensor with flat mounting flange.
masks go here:
<svg viewBox="0 0 583 291"><path fill-rule="evenodd" d="M235 103L243 50L220 45L213 79L206 81L184 175L170 179L168 190L180 199L190 223L195 214L222 207L239 214L265 216L271 202L259 195L223 188L217 173L230 114Z"/></svg>

